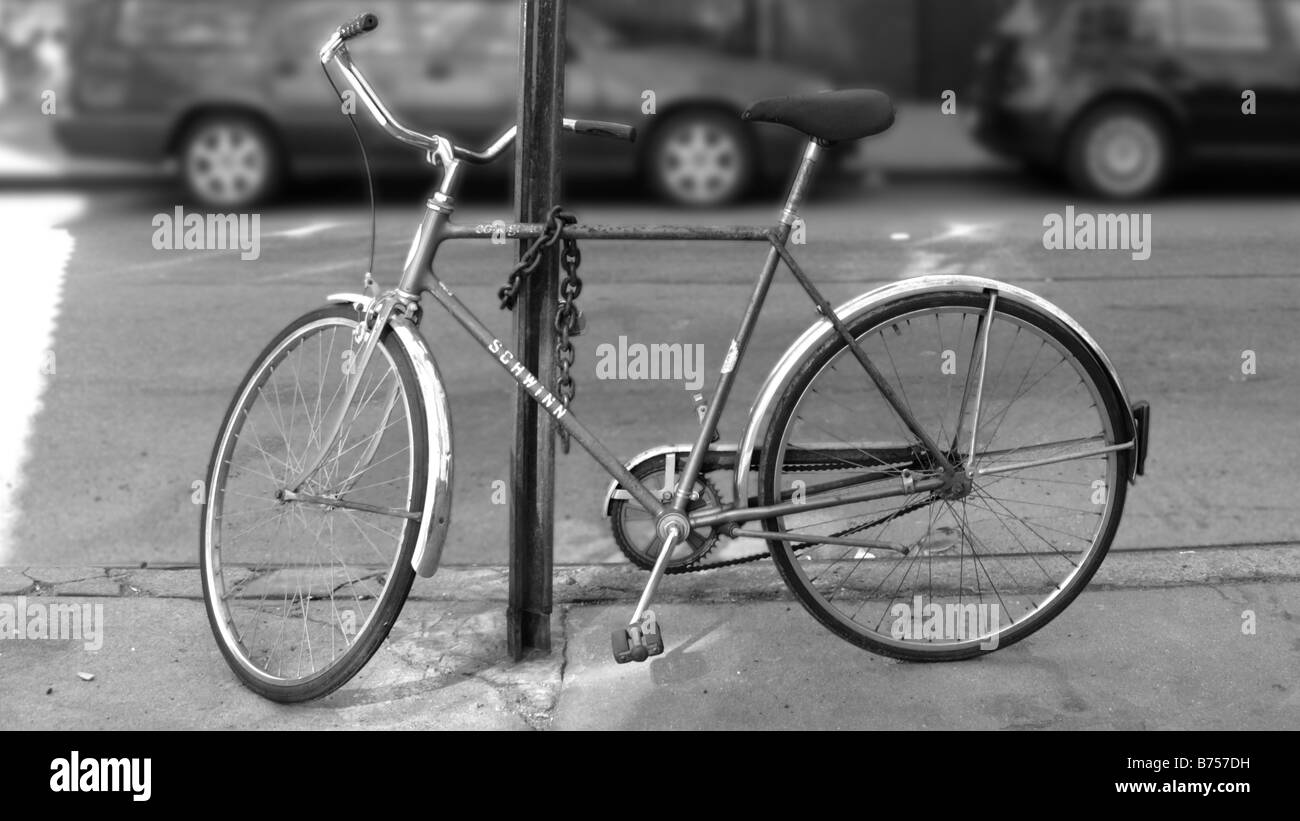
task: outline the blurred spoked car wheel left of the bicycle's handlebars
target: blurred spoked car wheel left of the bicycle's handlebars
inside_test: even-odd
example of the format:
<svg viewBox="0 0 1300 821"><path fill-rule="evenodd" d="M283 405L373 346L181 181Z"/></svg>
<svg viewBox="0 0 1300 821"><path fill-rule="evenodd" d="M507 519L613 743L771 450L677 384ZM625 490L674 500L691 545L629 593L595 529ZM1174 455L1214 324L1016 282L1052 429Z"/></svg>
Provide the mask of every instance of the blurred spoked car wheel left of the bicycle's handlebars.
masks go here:
<svg viewBox="0 0 1300 821"><path fill-rule="evenodd" d="M276 139L243 114L200 118L181 139L179 156L186 191L208 208L247 208L268 199L280 181Z"/></svg>

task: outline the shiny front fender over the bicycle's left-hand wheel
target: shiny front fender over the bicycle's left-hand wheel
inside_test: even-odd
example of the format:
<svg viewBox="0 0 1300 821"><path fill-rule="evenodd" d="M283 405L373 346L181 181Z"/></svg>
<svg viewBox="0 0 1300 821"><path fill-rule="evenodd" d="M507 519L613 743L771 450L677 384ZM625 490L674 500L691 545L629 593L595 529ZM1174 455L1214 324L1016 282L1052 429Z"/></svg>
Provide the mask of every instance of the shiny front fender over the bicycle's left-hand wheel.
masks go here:
<svg viewBox="0 0 1300 821"><path fill-rule="evenodd" d="M332 294L328 300L333 304L356 305L361 310L370 304L370 299L360 294ZM415 543L411 566L422 578L429 578L438 570L442 547L451 527L451 405L447 403L447 391L438 362L416 326L406 317L394 317L389 325L398 343L411 357L424 400L429 477L424 488L420 537Z"/></svg>

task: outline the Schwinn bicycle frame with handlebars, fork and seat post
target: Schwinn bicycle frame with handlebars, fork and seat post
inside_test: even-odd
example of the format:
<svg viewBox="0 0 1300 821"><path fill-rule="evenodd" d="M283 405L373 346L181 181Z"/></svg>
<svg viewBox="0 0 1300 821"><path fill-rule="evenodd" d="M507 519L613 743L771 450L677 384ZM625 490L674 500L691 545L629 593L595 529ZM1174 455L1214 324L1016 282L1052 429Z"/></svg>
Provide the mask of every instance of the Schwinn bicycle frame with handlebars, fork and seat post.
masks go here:
<svg viewBox="0 0 1300 821"><path fill-rule="evenodd" d="M399 142L425 149L430 165L442 168L442 179L425 203L425 213L411 244L411 249L407 253L402 279L398 287L394 291L385 294L382 297L377 297L374 294L369 297L363 297L365 299L368 312L370 312L370 320L373 321L372 327L374 330L368 334L368 339L361 346L361 351L356 357L356 373L359 374L364 370L365 362L368 361L374 343L378 339L378 331L396 316L419 310L419 300L422 294L432 294L434 300L443 309L446 309L451 317L462 327L464 327L467 333L469 333L471 336L484 346L486 353L491 356L493 360L495 360L497 364L511 375L511 378L515 379L520 388L524 390L533 401L536 401L546 413L551 416L551 418L555 420L556 425L563 427L582 449L590 453L590 456L615 479L615 482L621 485L628 494L637 500L637 503L659 520L660 535L666 539L666 544L660 551L660 561L655 568L655 581L659 575L662 575L662 566L658 565L666 566L666 557L671 552L670 542L672 539L684 539L686 534L696 527L723 525L728 527L729 533L733 535L751 535L792 542L811 538L826 542L826 537L815 537L810 534L775 534L751 530L737 531L734 530L734 525L740 522L779 517L798 511L815 511L857 501L878 500L892 496L907 496L924 492L949 492L954 487L959 487L962 482L968 481L968 477L975 470L974 443L979 423L979 405L984 382L984 359L987 357L988 327L991 322L982 322L982 330L978 334L976 340L979 353L979 359L976 360L979 362L978 375L974 378L974 385L970 385L970 382L967 383L966 392L963 394L959 418L965 418L967 399L971 396L971 391L974 391L975 408L968 436L971 447L967 462L970 464L958 466L953 464L959 453L957 438L954 436L953 443L950 443L949 449L946 451L932 439L932 436L922 427L906 404L896 394L889 382L884 378L881 372L862 351L858 340L850 334L840 313L831 307L816 286L812 284L788 248L788 240L794 222L798 218L800 207L807 192L814 169L824 147L819 140L809 140L807 148L805 149L800 162L798 171L794 177L794 182L790 184L785 199L780 220L775 226L568 225L563 226L560 230L562 238L578 240L703 240L753 242L768 244L766 261L759 272L758 281L754 284L749 303L745 307L740 326L733 335L727 356L724 357L707 412L696 442L690 448L686 468L677 482L672 499L666 503L655 495L655 491L637 479L632 474L630 469L621 460L619 460L575 413L564 407L564 404L546 387L546 383L540 379L537 374L532 373L523 362L519 361L516 353L511 351L504 342L497 338L491 330L489 330L488 326L484 325L484 322L480 321L478 317L476 317L459 297L456 297L455 292L436 273L434 260L438 249L445 242L459 239L484 240L493 239L502 234L508 239L526 240L536 239L546 233L549 226L543 223L516 222L508 225L494 223L491 226L462 226L451 221L455 212L456 191L460 184L463 165L485 164L499 157L514 143L516 129L511 127L490 147L481 152L455 145L450 140L438 135L419 134L399 123L396 118L384 107L378 95L365 81L361 71L352 64L351 57L338 35L335 35L335 38L332 39L332 42L328 43L321 51L321 62L325 65L332 62L338 65L341 73L358 91L365 107L370 110L376 121L385 131ZM619 129L627 130L625 126L618 126L616 123L589 123L575 120L564 120L563 125L568 130L603 134L607 136L616 136L616 131ZM800 501L790 500L770 505L748 507L740 504L740 499L737 499L734 509L708 508L686 514L690 488L702 473L706 456L710 451L708 446L715 438L718 423L731 396L737 369L745 357L746 348L767 299L772 279L776 275L776 270L783 264L790 270L796 281L812 300L824 322L829 323L833 333L845 342L848 349L852 351L853 356L862 365L862 369L871 378L880 395L897 414L898 420L916 438L919 448L911 449L909 453L911 459L909 461L911 465L918 468L923 465L923 469L916 472L919 475L914 475L911 470L901 470L900 474L870 472L858 479L829 482L822 486L806 488L806 495ZM989 284L997 286L997 283ZM987 294L989 301L985 316L992 317L997 304L997 287L989 287ZM332 418L329 423L325 425L325 430L337 431L342 422L342 414L346 412L354 392L355 385L350 385L344 391L341 409L337 412L337 420ZM335 423L335 421L338 423ZM332 443L333 435L326 436L325 440ZM1135 442L1130 439L1127 444L1108 446L1096 451L1096 453L1104 453L1110 449L1124 449L1134 447L1134 444ZM324 456L328 447L328 444L322 447L321 456ZM924 453L924 461L920 461L919 452ZM1080 456L1086 456L1086 453L1074 455L1071 457ZM295 494L302 482L306 481L312 472L315 472L320 464L320 457L307 460L307 464L308 468L300 474L299 479L295 483L291 483L287 488L290 495ZM736 487L737 491L740 491L738 477L744 475L749 466L737 462L736 469ZM885 479L892 479L892 485L888 487L868 487L842 494L829 492L845 490L855 485L878 483ZM666 522L670 525L668 530L664 530L663 527ZM675 535L670 537L670 534ZM836 539L836 543L871 548L888 547L875 542L853 539ZM654 583L655 582L651 582L651 586L647 587L646 598L650 592L653 592ZM642 605L645 604L646 598L644 598ZM638 607L638 614L640 609L641 608Z"/></svg>

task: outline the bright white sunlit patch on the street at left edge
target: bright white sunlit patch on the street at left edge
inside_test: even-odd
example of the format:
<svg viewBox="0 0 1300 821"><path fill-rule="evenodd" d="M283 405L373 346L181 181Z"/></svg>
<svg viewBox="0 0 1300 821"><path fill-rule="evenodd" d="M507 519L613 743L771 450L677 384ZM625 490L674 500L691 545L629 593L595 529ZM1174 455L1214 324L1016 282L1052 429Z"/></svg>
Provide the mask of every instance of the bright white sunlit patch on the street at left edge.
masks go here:
<svg viewBox="0 0 1300 821"><path fill-rule="evenodd" d="M75 362L49 357L74 247L72 233L61 226L83 208L82 197L68 195L0 199L0 242L12 255L6 286L14 297L5 321L5 399L0 403L0 565L13 555L22 469L42 395L61 370L75 370Z"/></svg>

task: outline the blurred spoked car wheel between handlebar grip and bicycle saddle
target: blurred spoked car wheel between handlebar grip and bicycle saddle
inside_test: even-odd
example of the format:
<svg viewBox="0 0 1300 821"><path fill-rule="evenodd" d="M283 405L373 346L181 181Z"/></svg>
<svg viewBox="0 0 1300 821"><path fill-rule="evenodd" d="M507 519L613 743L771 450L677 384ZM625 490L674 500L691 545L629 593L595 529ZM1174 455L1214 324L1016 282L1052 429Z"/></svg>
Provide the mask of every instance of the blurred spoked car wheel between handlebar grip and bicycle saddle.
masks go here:
<svg viewBox="0 0 1300 821"><path fill-rule="evenodd" d="M711 205L729 199L742 182L744 148L729 129L697 120L672 129L659 149L659 177L679 201Z"/></svg>

